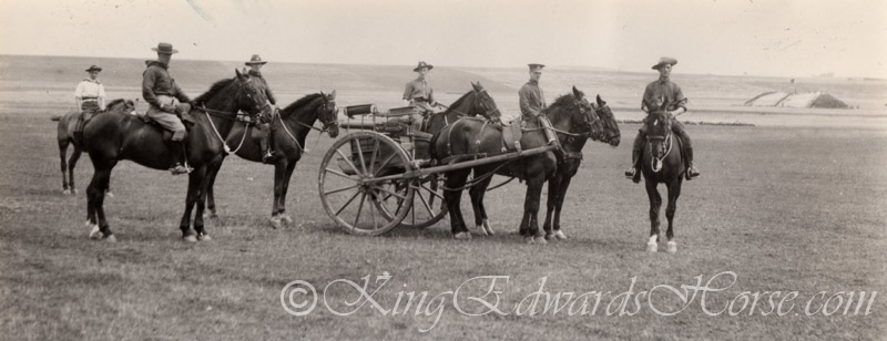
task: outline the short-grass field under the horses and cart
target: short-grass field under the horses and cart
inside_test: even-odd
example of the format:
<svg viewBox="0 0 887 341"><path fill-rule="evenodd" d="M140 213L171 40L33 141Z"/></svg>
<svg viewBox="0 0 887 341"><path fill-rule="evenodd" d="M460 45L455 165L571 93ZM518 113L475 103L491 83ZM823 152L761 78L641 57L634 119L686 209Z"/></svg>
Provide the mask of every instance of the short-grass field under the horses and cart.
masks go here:
<svg viewBox="0 0 887 341"><path fill-rule="evenodd" d="M3 62L10 68L8 59ZM31 68L63 66L54 63ZM206 70L223 71L206 79L225 78L231 71L222 66L207 63ZM359 68L337 70L345 69L355 74L345 76L348 80L374 78L361 74ZM562 224L570 236L565 242L521 242L516 232L524 187L517 183L487 196L490 218L500 232L495 237L457 242L446 220L426 230L401 228L376 238L344 234L317 198L318 165L332 140L323 137L314 145L312 135L313 152L299 164L287 200L295 219L292 226L269 228L272 168L230 158L216 187L222 217L207 224L214 240L184 244L177 223L186 178L124 162L111 179L115 197L105 200L120 242L108 244L88 239L83 226L83 192L92 174L86 156L78 167L81 194L61 195L55 127L49 116L70 105L64 102L70 96L67 89L73 89L77 78L61 84L61 78L44 75L29 83L11 79L10 72L0 73L2 339L878 340L887 332L883 296L887 289L887 134L883 128L689 127L703 176L684 184L675 218L676 255L644 251L646 195L642 186L621 177L636 125L621 126L623 144L618 148L598 143L585 147L585 162L564 208ZM316 90L334 89L329 85ZM502 86L499 91L504 92L512 85L503 81L489 86ZM359 103L363 99L355 97L381 93L368 89L351 96L348 86L336 87L341 101ZM44 95L41 87L47 89ZM284 103L308 89L304 84L281 87ZM605 87L593 87L606 97ZM613 95L621 96L630 99ZM511 105L507 102L500 100L500 106ZM730 105L723 100L717 103ZM463 200L462 208L470 217L468 202ZM708 293L705 307L717 312L733 302L738 309L743 300L734 298L747 297L744 291L759 293L763 298L751 313L746 308L736 316L730 311L710 316L696 297L680 313L662 316L651 307L676 311L683 306L675 294L662 290L649 301L639 298L641 309L631 313L640 291L692 286L697 276L705 285L725 271L736 275L735 283ZM282 289L304 280L330 306L348 310L345 302L358 298L357 291L341 285L325 289L327 283L348 279L363 285L365 276L375 279L384 273L392 278L374 296L383 309L405 307L397 306L399 292L425 291L430 299L479 276L508 276L508 282L496 286L503 291L497 306L502 310L512 310L537 291L541 278L552 296L611 293L588 316L509 311L471 317L459 313L452 300L440 308L439 319L436 303L422 306L429 314L410 310L394 316L367 303L346 317L329 311L323 297L304 317L290 316L282 307ZM724 279L714 286L726 287ZM370 281L369 291L379 283ZM633 296L623 310L626 313L608 314L606 303L630 288ZM462 290L482 296L487 289L483 281L472 281ZM779 296L774 298L774 291ZM767 313L773 310L768 298L779 303L792 291L798 296L783 306L784 316ZM840 309L829 316L822 311L807 316L804 310L810 299L816 310L833 294L850 291L868 294L857 314L853 313L856 301L848 313ZM873 291L877 296L868 301ZM818 292L825 292L824 298ZM469 311L483 311L477 301L460 303ZM834 301L826 308L837 306Z"/></svg>

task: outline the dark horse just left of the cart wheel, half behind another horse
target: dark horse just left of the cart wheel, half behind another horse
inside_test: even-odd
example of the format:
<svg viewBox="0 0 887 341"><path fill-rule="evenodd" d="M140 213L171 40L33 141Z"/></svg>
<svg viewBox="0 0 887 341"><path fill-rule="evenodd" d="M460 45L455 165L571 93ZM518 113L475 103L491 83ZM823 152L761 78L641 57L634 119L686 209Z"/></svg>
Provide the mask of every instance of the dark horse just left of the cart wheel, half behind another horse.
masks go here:
<svg viewBox="0 0 887 341"><path fill-rule="evenodd" d="M315 93L306 95L281 110L279 114L272 116L271 143L278 157L274 161L274 204L272 205L271 224L274 228L279 228L282 224L293 223L293 218L286 211L286 193L289 188L289 179L296 164L305 153L305 140L312 130L318 130L323 134L329 132L329 137L335 138L339 134L338 128L338 107L336 107L336 91L330 94ZM324 124L323 130L314 127L317 120ZM232 154L262 163L262 149L258 138L253 136L255 132L246 124L235 124L227 134L225 145L237 146ZM248 141L248 143L247 143ZM218 217L215 206L215 195L213 186L215 177L222 168L225 155L210 167L207 173L206 186L206 207L210 217Z"/></svg>

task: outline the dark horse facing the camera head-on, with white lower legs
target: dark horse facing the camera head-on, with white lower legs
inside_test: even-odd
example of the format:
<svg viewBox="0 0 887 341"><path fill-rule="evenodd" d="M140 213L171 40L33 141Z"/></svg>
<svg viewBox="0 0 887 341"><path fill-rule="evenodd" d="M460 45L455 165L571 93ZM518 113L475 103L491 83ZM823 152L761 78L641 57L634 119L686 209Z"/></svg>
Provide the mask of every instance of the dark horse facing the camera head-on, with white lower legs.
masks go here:
<svg viewBox="0 0 887 341"><path fill-rule="evenodd" d="M667 101L666 101L667 102ZM650 239L646 242L646 250L655 252L659 241L660 219L659 209L662 206L662 197L656 188L659 184L665 184L669 190L669 206L665 207L665 217L669 219L669 229L665 236L669 238L667 251L677 251L677 242L674 240L674 213L677 209L677 197L681 195L681 185L684 183L684 159L681 154L680 138L674 136L671 127L671 117L665 112L667 103L649 114L644 124L646 125L646 145L641 156L641 172L644 176L646 196L650 198Z"/></svg>

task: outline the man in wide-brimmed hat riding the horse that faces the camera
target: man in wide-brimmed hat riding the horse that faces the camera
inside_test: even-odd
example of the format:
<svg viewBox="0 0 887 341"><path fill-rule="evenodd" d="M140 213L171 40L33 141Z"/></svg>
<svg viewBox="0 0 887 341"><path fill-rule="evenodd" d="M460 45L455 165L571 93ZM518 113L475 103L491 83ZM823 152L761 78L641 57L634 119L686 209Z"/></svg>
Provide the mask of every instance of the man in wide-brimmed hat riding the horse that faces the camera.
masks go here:
<svg viewBox="0 0 887 341"><path fill-rule="evenodd" d="M665 113L671 118L672 132L681 137L682 152L687 164L686 179L691 180L700 175L699 170L693 166L693 146L690 135L686 134L684 125L679 122L675 116L686 112L687 99L677 86L671 81L672 66L677 64L677 60L673 58L660 58L659 63L653 65L653 70L659 71L659 80L653 81L646 85L644 90L644 97L641 101L641 110L648 114L653 114L660 110L663 103L666 103ZM644 123L646 120L644 118ZM625 170L625 177L631 178L635 184L641 182L641 152L646 142L646 125L642 125L638 131L638 137L634 138L634 146L632 148L632 167Z"/></svg>

